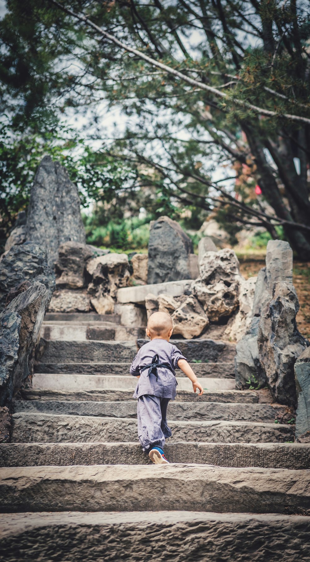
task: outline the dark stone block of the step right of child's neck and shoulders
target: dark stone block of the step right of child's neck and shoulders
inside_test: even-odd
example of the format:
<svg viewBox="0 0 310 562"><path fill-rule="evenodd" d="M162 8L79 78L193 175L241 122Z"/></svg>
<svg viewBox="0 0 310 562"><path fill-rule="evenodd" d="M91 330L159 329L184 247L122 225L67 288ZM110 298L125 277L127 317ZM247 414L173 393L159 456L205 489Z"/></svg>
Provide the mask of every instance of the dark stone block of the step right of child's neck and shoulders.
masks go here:
<svg viewBox="0 0 310 562"><path fill-rule="evenodd" d="M138 339L138 347L143 346L149 339ZM236 347L232 343L214 341L213 339L170 339L187 357L187 361L233 361Z"/></svg>

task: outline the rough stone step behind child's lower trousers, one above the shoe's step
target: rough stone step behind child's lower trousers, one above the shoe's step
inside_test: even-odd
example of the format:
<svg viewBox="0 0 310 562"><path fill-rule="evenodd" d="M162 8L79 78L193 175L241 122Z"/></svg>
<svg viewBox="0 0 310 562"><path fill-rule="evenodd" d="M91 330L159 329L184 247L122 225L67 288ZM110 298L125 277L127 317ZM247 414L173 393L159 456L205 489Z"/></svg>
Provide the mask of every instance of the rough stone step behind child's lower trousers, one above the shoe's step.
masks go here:
<svg viewBox="0 0 310 562"><path fill-rule="evenodd" d="M169 442L276 443L294 441L294 426L253 422L168 421ZM18 412L12 415L12 443L97 443L136 441L137 420Z"/></svg>

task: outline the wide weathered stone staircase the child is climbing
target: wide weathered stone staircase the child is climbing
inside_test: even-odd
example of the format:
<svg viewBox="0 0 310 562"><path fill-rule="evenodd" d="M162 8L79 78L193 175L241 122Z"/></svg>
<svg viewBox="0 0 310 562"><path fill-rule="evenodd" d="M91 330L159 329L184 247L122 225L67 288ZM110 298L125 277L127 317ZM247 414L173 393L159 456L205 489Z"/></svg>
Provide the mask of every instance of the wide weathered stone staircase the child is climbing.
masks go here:
<svg viewBox="0 0 310 562"><path fill-rule="evenodd" d="M310 446L267 390L235 390L232 344L176 341L205 391L177 371L154 466L128 374L143 330L48 314L42 336L0 445L0 560L310 560Z"/></svg>

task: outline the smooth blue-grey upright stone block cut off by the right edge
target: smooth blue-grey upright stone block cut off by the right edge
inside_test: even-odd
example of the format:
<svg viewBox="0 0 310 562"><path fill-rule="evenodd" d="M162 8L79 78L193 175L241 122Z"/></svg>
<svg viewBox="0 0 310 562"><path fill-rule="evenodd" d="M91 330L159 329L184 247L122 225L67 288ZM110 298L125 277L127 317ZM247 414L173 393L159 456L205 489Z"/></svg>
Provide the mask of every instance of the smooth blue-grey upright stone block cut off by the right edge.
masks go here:
<svg viewBox="0 0 310 562"><path fill-rule="evenodd" d="M295 438L310 443L310 347L305 348L294 365L297 392Z"/></svg>

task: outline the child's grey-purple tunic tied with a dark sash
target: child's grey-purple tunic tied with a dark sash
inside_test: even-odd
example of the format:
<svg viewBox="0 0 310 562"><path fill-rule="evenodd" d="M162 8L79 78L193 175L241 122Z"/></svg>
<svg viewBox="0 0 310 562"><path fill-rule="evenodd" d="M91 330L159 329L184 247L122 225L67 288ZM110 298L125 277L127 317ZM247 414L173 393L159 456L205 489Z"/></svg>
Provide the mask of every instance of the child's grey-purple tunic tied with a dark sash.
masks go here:
<svg viewBox="0 0 310 562"><path fill-rule="evenodd" d="M148 369L142 371L145 365L152 362L152 358L156 353L159 356L159 361L168 363L173 372L165 367L158 368L158 380L154 374L147 376ZM141 375L138 380L136 390L134 391L133 398L140 398L140 396L158 396L160 398L176 398L177 380L174 369L178 366L179 359L185 359L181 351L172 343L167 342L166 339L152 339L152 341L145 343L138 351L136 357L131 364L130 373L137 377Z"/></svg>

